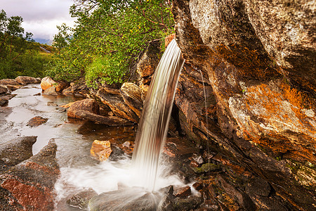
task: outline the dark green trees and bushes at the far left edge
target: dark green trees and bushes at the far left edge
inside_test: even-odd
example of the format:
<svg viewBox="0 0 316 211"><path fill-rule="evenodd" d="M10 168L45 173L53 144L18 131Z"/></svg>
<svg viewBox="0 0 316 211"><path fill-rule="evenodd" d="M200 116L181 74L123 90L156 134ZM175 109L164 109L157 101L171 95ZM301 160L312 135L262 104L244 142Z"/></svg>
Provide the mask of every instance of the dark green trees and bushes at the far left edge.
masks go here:
<svg viewBox="0 0 316 211"><path fill-rule="evenodd" d="M34 43L32 33L23 37L23 19L20 16L8 18L0 11L0 79L15 78L19 75L43 77L44 64L50 56L40 54L40 44Z"/></svg>

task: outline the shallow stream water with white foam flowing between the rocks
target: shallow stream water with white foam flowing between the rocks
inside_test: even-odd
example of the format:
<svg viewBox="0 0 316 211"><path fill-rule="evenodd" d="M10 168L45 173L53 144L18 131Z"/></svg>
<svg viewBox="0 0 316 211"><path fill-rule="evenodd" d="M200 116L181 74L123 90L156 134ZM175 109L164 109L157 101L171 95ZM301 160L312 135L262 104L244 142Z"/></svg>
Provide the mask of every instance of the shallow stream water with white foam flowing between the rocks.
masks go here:
<svg viewBox="0 0 316 211"><path fill-rule="evenodd" d="M65 201L74 193L88 188L93 188L99 194L116 191L119 186L133 187L131 155L122 155L115 161L98 162L91 158L90 148L96 139L110 140L117 146L125 141L133 143L136 129L131 126L107 127L85 120L68 119L67 113L59 106L76 101L76 98L34 96L40 92L39 84L30 84L13 92L17 96L9 101L8 107L12 108L12 113L6 117L6 123L0 125L0 144L16 136L37 136L37 142L33 146L33 154L36 154L50 139L55 139L58 147L56 158L60 166L60 178L55 184L55 210L72 210L65 205ZM58 106L48 106L48 102ZM27 122L35 116L48 118L48 121L38 127L27 126ZM168 170L169 167L161 166L159 174L166 176ZM165 176L157 179L157 188L170 184L183 185L177 177ZM133 194L138 190L140 189L135 188Z"/></svg>

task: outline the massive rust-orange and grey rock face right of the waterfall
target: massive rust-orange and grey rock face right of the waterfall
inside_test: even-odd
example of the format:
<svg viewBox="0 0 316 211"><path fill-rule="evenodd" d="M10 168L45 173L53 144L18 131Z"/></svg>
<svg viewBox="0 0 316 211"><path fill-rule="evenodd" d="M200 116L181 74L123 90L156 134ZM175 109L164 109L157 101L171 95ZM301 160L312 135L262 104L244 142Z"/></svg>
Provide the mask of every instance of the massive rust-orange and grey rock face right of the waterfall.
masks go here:
<svg viewBox="0 0 316 211"><path fill-rule="evenodd" d="M182 127L223 155L241 180L218 181L239 186L228 193L244 209L315 209L314 14L307 1L173 1ZM249 176L266 192L251 192Z"/></svg>

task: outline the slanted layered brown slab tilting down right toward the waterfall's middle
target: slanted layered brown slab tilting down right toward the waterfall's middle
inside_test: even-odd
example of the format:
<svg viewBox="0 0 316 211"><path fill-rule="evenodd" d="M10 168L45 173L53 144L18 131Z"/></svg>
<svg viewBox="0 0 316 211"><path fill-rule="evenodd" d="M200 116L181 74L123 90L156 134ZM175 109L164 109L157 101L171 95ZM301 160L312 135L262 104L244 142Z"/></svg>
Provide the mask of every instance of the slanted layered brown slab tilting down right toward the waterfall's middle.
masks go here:
<svg viewBox="0 0 316 211"><path fill-rule="evenodd" d="M126 105L121 94L111 94L108 93L106 89L100 89L96 96L100 98L102 103L109 106L117 117L122 117L131 122L138 122L138 115Z"/></svg>

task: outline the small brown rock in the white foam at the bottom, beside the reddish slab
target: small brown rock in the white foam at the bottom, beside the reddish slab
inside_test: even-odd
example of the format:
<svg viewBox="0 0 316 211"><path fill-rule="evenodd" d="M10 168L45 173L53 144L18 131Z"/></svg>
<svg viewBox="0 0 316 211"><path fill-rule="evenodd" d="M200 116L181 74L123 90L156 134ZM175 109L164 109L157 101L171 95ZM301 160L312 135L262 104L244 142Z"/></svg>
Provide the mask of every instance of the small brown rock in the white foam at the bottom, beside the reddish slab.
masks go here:
<svg viewBox="0 0 316 211"><path fill-rule="evenodd" d="M81 191L67 200L67 205L70 205L70 207L77 207L81 210L88 210L88 201L94 196L98 196L98 193L96 193L93 189Z"/></svg>

